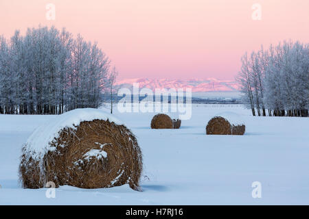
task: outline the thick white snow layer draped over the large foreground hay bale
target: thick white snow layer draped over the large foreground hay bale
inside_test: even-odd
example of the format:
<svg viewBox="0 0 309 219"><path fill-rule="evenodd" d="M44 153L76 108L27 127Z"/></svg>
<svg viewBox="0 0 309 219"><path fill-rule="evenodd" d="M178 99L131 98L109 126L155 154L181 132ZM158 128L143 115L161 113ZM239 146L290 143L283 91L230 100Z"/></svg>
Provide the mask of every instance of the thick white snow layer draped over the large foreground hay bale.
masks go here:
<svg viewBox="0 0 309 219"><path fill-rule="evenodd" d="M109 120L117 125L124 125L124 123L103 110L91 108L71 110L36 128L25 144L25 153L29 153L32 159L39 160L48 151L55 149L50 146L50 142L58 138L58 134L62 129L65 127L76 129L80 123L96 119Z"/></svg>

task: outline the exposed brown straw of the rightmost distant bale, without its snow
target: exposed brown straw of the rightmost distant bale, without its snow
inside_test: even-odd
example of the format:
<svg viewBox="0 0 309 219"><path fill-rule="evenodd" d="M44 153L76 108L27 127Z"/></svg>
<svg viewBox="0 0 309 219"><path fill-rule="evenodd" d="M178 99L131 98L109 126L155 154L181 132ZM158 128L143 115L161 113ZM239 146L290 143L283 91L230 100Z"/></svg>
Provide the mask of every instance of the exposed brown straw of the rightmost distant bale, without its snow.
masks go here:
<svg viewBox="0 0 309 219"><path fill-rule="evenodd" d="M233 125L221 116L216 116L209 120L206 127L207 135L239 135L242 136L245 131L244 125Z"/></svg>

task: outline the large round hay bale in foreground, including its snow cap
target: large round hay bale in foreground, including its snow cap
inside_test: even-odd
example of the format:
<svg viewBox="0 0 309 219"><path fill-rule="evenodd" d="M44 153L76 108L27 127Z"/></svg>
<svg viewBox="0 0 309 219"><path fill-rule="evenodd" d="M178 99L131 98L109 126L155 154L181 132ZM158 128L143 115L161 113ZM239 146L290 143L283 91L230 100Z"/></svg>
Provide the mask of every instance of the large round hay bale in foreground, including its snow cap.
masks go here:
<svg viewBox="0 0 309 219"><path fill-rule="evenodd" d="M24 188L48 181L78 188L128 183L139 189L141 150L133 133L102 110L79 109L38 127L23 146L19 168Z"/></svg>

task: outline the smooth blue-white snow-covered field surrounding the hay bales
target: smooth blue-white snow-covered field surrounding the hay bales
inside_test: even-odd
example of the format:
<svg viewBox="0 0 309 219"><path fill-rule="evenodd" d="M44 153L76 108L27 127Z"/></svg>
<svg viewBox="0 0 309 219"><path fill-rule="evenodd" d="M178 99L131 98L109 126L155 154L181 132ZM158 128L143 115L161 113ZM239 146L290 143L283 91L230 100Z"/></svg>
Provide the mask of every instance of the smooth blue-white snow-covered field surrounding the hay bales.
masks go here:
<svg viewBox="0 0 309 219"><path fill-rule="evenodd" d="M237 112L244 136L206 136L214 114ZM144 192L128 185L84 190L69 186L25 190L18 179L21 145L55 116L0 115L1 205L268 205L309 204L308 118L253 117L236 105L193 105L181 129L152 130L154 114L115 112L137 136L144 154ZM262 184L252 198L251 184Z"/></svg>

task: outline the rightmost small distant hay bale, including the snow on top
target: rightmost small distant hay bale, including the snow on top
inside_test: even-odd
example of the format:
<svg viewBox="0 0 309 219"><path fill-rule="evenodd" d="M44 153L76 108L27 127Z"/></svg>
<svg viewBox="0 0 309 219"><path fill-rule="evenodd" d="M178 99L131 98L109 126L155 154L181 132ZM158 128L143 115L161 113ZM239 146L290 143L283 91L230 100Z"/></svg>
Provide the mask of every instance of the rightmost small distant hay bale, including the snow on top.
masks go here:
<svg viewBox="0 0 309 219"><path fill-rule="evenodd" d="M225 112L209 120L206 126L207 135L239 135L245 131L244 122L238 114Z"/></svg>

